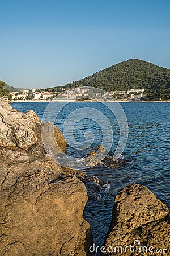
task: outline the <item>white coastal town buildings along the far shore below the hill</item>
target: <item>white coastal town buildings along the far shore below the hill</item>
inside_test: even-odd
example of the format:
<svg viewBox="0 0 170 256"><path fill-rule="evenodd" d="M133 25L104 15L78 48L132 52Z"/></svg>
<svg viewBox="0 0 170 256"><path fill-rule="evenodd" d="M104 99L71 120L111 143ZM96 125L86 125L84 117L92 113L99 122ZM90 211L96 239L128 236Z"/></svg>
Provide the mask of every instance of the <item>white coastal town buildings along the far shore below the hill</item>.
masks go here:
<svg viewBox="0 0 170 256"><path fill-rule="evenodd" d="M60 93L49 92L47 89L24 89L22 92L10 92L12 101L140 101L145 99L144 89L117 90L105 92L104 90L80 87L65 90Z"/></svg>

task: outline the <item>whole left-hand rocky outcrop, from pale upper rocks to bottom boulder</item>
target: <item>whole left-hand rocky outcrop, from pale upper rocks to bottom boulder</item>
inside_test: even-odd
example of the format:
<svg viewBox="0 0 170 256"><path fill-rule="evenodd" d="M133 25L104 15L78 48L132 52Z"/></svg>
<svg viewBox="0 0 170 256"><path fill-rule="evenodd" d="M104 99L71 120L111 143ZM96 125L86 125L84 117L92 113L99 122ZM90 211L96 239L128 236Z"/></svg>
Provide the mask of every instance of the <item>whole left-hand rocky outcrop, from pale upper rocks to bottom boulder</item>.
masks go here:
<svg viewBox="0 0 170 256"><path fill-rule="evenodd" d="M57 127L44 125L65 150ZM86 188L74 175L58 179L61 173L42 144L39 117L0 100L0 255L89 255Z"/></svg>

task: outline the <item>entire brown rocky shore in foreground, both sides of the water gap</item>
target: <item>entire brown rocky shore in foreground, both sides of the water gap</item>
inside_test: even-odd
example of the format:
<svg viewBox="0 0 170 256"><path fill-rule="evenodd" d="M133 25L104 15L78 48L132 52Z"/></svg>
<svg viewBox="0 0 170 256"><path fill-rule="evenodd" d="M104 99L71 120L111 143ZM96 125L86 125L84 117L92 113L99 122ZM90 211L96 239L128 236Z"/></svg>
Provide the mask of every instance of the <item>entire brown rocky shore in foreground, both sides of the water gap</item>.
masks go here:
<svg viewBox="0 0 170 256"><path fill-rule="evenodd" d="M83 219L88 198L82 182L92 178L75 175L76 170L63 168L48 156L41 125L32 110L20 113L0 99L0 255L93 255L90 224ZM50 122L43 125L47 140L48 131L54 130L56 154L65 151L61 131ZM110 156L105 160L112 168L124 164L122 159L113 163ZM111 226L97 251L118 256L169 255L169 225L168 208L145 186L131 184L114 199Z"/></svg>

